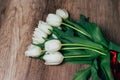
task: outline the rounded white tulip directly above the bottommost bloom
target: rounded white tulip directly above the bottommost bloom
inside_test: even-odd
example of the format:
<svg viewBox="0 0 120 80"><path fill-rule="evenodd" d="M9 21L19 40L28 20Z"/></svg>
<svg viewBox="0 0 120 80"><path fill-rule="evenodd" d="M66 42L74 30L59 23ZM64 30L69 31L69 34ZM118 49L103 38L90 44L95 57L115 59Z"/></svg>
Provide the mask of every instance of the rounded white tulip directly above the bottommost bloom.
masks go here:
<svg viewBox="0 0 120 80"><path fill-rule="evenodd" d="M61 47L62 47L62 44L59 40L53 39L53 40L49 40L49 41L45 42L45 50L46 51L50 51L50 52L58 51L61 49Z"/></svg>

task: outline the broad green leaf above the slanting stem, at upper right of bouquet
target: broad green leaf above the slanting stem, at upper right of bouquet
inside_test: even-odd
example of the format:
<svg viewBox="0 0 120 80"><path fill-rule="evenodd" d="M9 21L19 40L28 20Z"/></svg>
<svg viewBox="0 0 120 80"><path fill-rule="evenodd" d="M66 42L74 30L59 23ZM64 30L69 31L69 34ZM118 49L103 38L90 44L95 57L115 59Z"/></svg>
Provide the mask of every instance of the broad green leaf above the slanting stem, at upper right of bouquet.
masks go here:
<svg viewBox="0 0 120 80"><path fill-rule="evenodd" d="M105 40L100 28L95 23L90 22L79 22L81 27L83 27L91 36L92 40L102 44L105 47L108 47L108 42Z"/></svg>

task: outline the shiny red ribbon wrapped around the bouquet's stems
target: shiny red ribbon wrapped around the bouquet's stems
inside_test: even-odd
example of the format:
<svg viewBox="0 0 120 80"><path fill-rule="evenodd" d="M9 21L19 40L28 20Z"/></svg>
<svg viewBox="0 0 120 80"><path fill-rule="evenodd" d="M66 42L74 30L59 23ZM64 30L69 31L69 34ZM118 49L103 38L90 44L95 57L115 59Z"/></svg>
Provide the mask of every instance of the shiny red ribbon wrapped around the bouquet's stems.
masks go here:
<svg viewBox="0 0 120 80"><path fill-rule="evenodd" d="M117 61L117 52L110 51L110 65L111 71L115 80L120 80L120 63Z"/></svg>

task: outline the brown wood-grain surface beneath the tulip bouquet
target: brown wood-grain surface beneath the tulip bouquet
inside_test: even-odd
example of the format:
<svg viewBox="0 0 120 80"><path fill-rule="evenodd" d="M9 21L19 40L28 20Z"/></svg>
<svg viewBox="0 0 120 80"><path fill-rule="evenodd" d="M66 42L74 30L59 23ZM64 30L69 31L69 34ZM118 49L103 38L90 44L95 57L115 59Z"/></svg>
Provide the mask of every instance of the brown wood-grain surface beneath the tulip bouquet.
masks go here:
<svg viewBox="0 0 120 80"><path fill-rule="evenodd" d="M107 39L120 44L120 0L0 0L0 80L72 80L85 67L46 66L24 56L38 21L57 8L75 20L81 13L89 16Z"/></svg>

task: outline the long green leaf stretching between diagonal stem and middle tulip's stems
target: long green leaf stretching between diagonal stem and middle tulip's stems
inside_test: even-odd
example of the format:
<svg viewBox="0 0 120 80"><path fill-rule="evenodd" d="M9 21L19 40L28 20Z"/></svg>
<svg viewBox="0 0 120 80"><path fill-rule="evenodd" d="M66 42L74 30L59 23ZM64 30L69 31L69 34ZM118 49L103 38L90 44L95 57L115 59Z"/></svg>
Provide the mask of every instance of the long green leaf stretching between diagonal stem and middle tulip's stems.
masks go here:
<svg viewBox="0 0 120 80"><path fill-rule="evenodd" d="M103 53L106 53L106 51L104 50L103 46L101 46L100 44L97 44L95 42L92 42L88 39L82 39L80 37L74 37L74 36L69 36L69 34L65 34L63 31L59 30L58 28L54 28L53 32L55 35L58 36L58 39L63 43L74 43L74 44L81 44L84 47L89 47L89 48L93 48L93 49L98 49L100 51L102 51Z"/></svg>

